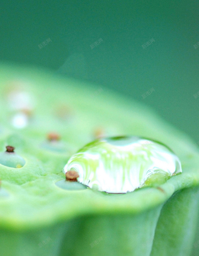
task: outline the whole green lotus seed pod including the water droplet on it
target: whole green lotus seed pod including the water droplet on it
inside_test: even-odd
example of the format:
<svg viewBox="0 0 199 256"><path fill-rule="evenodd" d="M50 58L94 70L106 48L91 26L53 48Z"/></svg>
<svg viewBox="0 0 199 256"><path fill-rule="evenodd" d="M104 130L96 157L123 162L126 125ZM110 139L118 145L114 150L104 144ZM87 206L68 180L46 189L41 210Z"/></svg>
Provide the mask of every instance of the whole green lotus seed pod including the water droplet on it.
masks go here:
<svg viewBox="0 0 199 256"><path fill-rule="evenodd" d="M23 77L34 104L25 94L9 100L13 77ZM4 65L0 78L0 160L16 153L26 160L22 168L0 163L1 255L198 254L199 151L187 135L108 89L91 97L95 85ZM64 104L69 119L57 110ZM13 111L24 106L31 119L13 125ZM93 136L96 127L105 132ZM49 131L60 140L46 138ZM16 153L3 152L5 145ZM74 156L78 169L69 167Z"/></svg>

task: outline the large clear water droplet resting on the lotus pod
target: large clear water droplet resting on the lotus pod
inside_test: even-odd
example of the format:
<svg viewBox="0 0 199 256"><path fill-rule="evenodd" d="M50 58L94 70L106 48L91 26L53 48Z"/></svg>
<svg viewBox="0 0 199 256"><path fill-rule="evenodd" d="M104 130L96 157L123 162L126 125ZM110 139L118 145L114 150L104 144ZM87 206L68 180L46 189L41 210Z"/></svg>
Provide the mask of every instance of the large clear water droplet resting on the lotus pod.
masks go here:
<svg viewBox="0 0 199 256"><path fill-rule="evenodd" d="M63 171L71 169L78 172L80 183L107 193L158 186L182 172L180 160L170 148L135 136L102 138L85 145Z"/></svg>

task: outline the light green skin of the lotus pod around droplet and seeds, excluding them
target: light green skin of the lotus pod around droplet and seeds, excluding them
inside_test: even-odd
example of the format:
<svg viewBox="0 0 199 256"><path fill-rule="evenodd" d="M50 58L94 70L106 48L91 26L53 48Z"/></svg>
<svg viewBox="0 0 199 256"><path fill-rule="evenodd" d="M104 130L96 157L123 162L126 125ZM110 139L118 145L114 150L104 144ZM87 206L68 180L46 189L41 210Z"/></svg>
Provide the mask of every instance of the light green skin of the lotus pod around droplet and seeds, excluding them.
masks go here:
<svg viewBox="0 0 199 256"><path fill-rule="evenodd" d="M8 256L180 256L198 255L193 243L199 240L197 228L199 151L184 133L165 123L148 107L121 98L105 89L72 79L52 76L37 69L2 65L0 69L0 151L13 144L26 160L19 169L0 165L2 188L9 194L0 198L0 255ZM15 130L9 125L11 113L5 103L5 83L22 77L32 83L27 91L38 101L30 126ZM42 99L38 95L51 92ZM67 103L74 119L59 121L53 110ZM69 155L49 152L39 144L48 132L60 133L74 153L92 141L94 127L116 127L112 136L137 135L165 143L180 158L182 174L160 187L142 188L113 195L84 190L63 190L55 185L64 179L62 169ZM46 189L45 195L42 195ZM147 191L151 191L148 193ZM147 192L147 193L146 193ZM47 244L38 244L47 237ZM91 248L90 243L103 241ZM143 243L154 237L152 243Z"/></svg>

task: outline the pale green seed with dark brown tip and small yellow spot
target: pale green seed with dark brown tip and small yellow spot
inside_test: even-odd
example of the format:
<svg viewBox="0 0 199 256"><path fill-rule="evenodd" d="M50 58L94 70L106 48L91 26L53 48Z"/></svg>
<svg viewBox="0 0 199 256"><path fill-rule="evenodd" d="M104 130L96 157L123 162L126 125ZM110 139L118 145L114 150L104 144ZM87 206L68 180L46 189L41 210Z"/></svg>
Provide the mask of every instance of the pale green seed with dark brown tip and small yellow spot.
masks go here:
<svg viewBox="0 0 199 256"><path fill-rule="evenodd" d="M6 151L0 153L0 164L13 168L23 167L26 161L23 157L17 155L14 150L13 146L6 146Z"/></svg>

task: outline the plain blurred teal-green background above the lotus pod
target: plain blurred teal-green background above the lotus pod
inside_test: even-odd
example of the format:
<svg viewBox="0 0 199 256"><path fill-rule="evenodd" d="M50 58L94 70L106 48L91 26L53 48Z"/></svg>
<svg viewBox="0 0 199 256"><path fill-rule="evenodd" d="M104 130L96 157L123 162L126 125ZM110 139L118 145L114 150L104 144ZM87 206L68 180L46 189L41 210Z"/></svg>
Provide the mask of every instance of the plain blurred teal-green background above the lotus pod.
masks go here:
<svg viewBox="0 0 199 256"><path fill-rule="evenodd" d="M103 93L114 89L152 107L196 143L198 13L196 0L6 1L0 61L51 69L97 84ZM143 49L151 38L155 42Z"/></svg>

